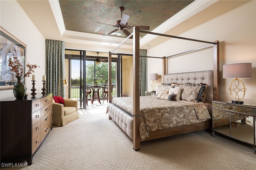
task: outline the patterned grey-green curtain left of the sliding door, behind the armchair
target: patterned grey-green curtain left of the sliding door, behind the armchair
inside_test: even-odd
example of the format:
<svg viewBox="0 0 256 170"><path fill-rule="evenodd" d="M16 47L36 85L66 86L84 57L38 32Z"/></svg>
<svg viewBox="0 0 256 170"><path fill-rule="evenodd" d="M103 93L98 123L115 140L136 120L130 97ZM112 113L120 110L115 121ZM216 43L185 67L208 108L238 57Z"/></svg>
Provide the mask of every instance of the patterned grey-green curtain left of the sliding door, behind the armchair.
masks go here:
<svg viewBox="0 0 256 170"><path fill-rule="evenodd" d="M53 96L65 97L65 42L46 39L46 88Z"/></svg>

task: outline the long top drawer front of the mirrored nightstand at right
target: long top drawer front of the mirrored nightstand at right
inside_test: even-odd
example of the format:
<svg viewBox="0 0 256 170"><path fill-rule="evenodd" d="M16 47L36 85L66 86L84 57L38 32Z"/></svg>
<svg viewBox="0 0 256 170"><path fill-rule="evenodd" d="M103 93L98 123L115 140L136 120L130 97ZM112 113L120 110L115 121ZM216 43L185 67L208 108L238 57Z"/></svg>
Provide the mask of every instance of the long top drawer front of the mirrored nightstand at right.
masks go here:
<svg viewBox="0 0 256 170"><path fill-rule="evenodd" d="M231 106L228 104L219 104L219 103L212 103L212 108L216 109L223 109L231 112L237 113L246 113L250 115L254 115L254 109L248 107L240 107L240 106Z"/></svg>

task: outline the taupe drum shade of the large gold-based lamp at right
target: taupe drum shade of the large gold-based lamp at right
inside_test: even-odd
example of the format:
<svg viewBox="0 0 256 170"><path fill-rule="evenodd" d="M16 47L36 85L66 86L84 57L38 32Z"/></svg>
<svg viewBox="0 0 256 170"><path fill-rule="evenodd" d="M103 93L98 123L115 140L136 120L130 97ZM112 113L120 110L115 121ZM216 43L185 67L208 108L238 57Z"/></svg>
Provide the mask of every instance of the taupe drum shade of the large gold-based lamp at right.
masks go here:
<svg viewBox="0 0 256 170"><path fill-rule="evenodd" d="M223 78L252 78L252 63L223 65Z"/></svg>

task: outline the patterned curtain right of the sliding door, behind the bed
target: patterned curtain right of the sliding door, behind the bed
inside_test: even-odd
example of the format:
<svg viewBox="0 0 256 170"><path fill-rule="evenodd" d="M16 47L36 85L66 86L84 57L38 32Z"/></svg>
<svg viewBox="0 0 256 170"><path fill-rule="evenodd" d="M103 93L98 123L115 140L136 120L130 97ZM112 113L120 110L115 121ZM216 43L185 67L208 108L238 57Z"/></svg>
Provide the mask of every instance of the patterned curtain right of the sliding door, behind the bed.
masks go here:
<svg viewBox="0 0 256 170"><path fill-rule="evenodd" d="M140 96L145 96L148 87L147 50L140 49Z"/></svg>

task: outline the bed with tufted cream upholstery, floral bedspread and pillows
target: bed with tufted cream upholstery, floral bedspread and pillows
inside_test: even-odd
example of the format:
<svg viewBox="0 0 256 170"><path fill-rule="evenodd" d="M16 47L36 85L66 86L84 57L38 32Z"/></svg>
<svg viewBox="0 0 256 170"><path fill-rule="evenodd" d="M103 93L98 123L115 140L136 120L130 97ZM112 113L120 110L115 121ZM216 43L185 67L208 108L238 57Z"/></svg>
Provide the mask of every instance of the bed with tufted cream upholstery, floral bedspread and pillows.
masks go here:
<svg viewBox="0 0 256 170"><path fill-rule="evenodd" d="M140 140L147 141L159 137L210 128L210 102L213 99L213 71L166 74L164 77L166 81L164 84L157 86L156 95L140 96ZM175 85L173 86L166 85L174 83ZM195 97L198 96L201 86L188 86L190 84L200 85L200 83L207 84L206 103L194 101ZM174 86L176 87L174 88ZM197 89L194 90L197 94L194 95L195 97L192 97L190 94L190 99L187 100L169 101L168 98L165 98L168 94L162 94L164 97L161 96L158 98L161 91L169 91L170 89L181 90L182 88L184 88L183 90ZM177 92L177 94L179 93ZM186 96L182 94L178 97L181 98L183 96L186 99ZM114 98L107 109L110 119L114 120L131 139L133 139L132 100L132 97ZM174 128L174 130L166 135L162 135L162 132L160 132L170 131L171 128Z"/></svg>

